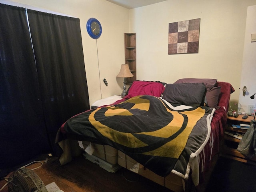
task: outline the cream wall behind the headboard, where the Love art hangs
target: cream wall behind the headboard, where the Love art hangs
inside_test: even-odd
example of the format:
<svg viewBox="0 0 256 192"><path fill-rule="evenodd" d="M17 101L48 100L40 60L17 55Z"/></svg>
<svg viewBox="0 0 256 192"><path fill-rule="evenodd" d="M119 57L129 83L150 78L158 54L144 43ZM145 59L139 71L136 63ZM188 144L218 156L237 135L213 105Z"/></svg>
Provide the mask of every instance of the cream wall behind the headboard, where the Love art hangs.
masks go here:
<svg viewBox="0 0 256 192"><path fill-rule="evenodd" d="M130 10L136 32L137 79L172 83L217 78L238 102L247 6L256 0L168 0ZM201 18L198 54L168 55L168 24Z"/></svg>

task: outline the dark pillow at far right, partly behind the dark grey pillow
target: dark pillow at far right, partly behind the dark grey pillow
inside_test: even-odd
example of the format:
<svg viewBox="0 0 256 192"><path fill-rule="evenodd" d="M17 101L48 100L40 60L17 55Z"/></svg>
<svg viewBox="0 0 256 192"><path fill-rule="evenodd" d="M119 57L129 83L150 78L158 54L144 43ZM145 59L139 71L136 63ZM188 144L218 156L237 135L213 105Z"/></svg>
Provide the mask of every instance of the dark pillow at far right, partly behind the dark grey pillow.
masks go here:
<svg viewBox="0 0 256 192"><path fill-rule="evenodd" d="M206 91L206 104L209 107L212 108L217 108L218 107L218 100L219 100L219 95L220 95L220 88L221 86L218 87L213 87L211 90Z"/></svg>

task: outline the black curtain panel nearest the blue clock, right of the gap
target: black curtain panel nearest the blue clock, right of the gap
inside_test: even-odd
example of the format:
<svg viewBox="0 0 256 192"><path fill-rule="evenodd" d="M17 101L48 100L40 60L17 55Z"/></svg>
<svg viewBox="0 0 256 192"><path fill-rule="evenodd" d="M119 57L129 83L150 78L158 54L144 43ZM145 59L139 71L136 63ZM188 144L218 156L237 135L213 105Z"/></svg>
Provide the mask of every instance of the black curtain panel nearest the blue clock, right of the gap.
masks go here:
<svg viewBox="0 0 256 192"><path fill-rule="evenodd" d="M28 10L44 117L53 148L58 128L90 108L80 22Z"/></svg>

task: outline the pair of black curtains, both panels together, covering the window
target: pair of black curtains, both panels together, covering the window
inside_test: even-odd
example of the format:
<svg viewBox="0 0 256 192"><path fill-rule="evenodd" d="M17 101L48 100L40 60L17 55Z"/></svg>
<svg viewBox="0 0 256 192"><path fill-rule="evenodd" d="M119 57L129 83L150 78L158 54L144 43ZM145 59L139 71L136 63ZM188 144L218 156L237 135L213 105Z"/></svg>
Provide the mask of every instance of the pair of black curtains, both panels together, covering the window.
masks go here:
<svg viewBox="0 0 256 192"><path fill-rule="evenodd" d="M28 10L28 20L0 4L0 176L55 154L60 126L89 109L79 19Z"/></svg>

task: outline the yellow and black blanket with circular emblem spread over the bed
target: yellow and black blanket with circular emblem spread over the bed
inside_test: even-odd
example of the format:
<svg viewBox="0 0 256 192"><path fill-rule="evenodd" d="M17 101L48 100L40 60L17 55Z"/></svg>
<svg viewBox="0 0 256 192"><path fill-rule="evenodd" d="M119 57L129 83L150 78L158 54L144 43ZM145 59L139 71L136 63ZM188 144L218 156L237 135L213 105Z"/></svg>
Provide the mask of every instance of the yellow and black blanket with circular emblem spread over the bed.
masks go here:
<svg viewBox="0 0 256 192"><path fill-rule="evenodd" d="M78 114L63 124L61 130L78 136L79 140L113 146L156 174L166 176L174 168L193 129L196 130L193 137L198 134L204 142L208 129L206 116L212 112L209 109L173 110L161 98L136 96ZM191 153L201 146L197 140L194 142L190 144Z"/></svg>

